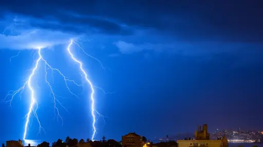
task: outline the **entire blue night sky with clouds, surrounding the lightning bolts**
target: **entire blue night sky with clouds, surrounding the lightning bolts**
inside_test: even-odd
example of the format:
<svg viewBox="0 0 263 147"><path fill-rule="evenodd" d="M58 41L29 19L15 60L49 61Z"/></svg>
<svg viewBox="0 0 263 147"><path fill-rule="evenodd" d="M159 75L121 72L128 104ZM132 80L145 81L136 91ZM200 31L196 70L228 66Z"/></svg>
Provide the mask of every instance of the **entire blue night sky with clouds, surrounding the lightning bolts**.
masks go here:
<svg viewBox="0 0 263 147"><path fill-rule="evenodd" d="M82 84L79 65L95 88L95 139L146 138L209 130L263 130L262 1L3 1L0 4L0 94L23 86L42 47L43 58ZM1 31L2 32L2 31ZM18 54L19 53L19 54ZM17 57L11 58L12 56ZM67 135L91 138L90 86L76 86L47 69L62 120L54 112L40 61L32 86L39 124L30 117L26 139L48 142ZM53 75L53 79L52 79ZM6 101L11 97L7 97ZM57 103L58 104L58 103ZM23 139L30 91L0 103L0 141ZM35 108L35 107L34 107ZM58 119L57 119L58 118ZM104 122L105 120L105 122Z"/></svg>

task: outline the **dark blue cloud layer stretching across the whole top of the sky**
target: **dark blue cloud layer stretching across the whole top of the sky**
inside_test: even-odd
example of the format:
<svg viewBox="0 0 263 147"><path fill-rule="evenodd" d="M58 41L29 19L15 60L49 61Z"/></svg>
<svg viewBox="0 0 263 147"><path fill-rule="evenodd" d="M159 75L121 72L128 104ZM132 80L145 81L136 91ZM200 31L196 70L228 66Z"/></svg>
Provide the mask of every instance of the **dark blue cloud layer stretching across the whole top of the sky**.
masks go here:
<svg viewBox="0 0 263 147"><path fill-rule="evenodd" d="M121 27L120 24L124 23L130 27L155 29L176 36L178 40L262 42L263 21L260 17L263 14L262 4L260 0L85 2L10 0L2 2L0 7L3 12L11 11L45 19L52 17L61 24L89 26L107 34L130 34L130 31ZM85 17L66 15L68 12ZM86 16L97 18L91 19ZM52 25L43 27L51 28Z"/></svg>

